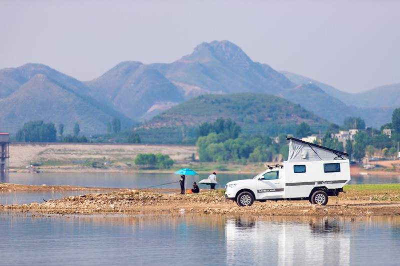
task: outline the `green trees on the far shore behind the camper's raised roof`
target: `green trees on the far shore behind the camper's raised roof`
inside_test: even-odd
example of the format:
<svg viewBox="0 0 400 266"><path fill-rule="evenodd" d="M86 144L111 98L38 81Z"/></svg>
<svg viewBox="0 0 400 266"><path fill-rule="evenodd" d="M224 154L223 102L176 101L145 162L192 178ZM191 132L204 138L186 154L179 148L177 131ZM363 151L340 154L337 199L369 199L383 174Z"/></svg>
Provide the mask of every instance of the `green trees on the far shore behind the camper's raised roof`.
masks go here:
<svg viewBox="0 0 400 266"><path fill-rule="evenodd" d="M394 129L391 137L381 134L384 128ZM365 129L365 122L359 117L346 117L340 127L331 124L321 139L322 145L338 151L346 151L351 160L361 161L367 153L372 157L374 153L394 156L396 149L392 143L400 141L400 108L393 111L392 122L383 125L379 130L371 129L369 134L358 131L352 140L347 139L345 144L334 136L339 130ZM240 135L241 129L235 122L218 118L214 123L203 123L196 129L196 147L199 160L203 162L270 162L280 155L282 159L288 156L286 134L277 138L260 135ZM309 136L311 132L307 123L300 123L295 131L295 137Z"/></svg>

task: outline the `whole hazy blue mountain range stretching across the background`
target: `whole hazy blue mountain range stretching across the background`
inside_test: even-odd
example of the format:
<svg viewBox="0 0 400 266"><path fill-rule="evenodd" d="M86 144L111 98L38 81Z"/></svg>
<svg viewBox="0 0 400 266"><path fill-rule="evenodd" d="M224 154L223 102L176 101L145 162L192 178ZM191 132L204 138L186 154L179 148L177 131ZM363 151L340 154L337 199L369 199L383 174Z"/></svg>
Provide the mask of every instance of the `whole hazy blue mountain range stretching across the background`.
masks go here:
<svg viewBox="0 0 400 266"><path fill-rule="evenodd" d="M42 64L0 69L0 131L16 132L26 121L43 120L64 124L66 133L76 122L82 133L103 133L114 117L130 127L198 95L242 92L284 98L339 125L357 116L380 127L400 106L400 84L345 93L253 62L229 41L212 41L169 64L121 62L87 82Z"/></svg>

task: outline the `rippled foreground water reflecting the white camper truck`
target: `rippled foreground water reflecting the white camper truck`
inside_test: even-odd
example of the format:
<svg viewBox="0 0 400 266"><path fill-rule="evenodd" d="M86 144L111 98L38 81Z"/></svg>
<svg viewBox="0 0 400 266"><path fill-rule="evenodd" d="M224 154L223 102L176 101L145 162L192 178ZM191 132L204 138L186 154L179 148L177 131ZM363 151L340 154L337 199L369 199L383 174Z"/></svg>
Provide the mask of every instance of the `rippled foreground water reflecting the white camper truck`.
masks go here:
<svg viewBox="0 0 400 266"><path fill-rule="evenodd" d="M398 265L399 220L0 211L0 265Z"/></svg>

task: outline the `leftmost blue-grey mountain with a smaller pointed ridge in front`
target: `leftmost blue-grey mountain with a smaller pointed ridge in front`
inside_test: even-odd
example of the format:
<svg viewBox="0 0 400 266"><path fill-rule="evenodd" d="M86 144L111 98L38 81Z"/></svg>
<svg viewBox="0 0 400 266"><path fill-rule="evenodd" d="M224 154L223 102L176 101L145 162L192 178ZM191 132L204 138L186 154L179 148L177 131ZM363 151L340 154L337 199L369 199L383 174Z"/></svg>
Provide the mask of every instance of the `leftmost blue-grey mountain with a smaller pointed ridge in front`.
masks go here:
<svg viewBox="0 0 400 266"><path fill-rule="evenodd" d="M12 75L6 75L12 73ZM11 84L6 97L0 99L1 131L16 132L29 120L43 120L63 124L65 134L72 133L75 123L85 134L106 132L106 125L114 117L122 125L134 121L106 107L87 94L90 89L80 81L40 64L26 64L18 68L2 69Z"/></svg>

